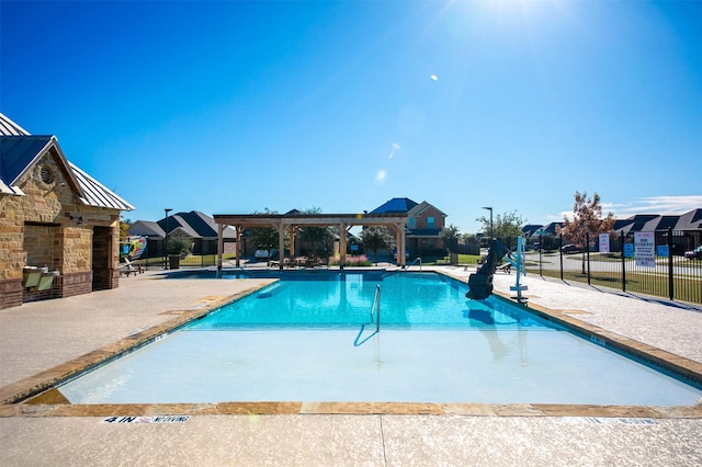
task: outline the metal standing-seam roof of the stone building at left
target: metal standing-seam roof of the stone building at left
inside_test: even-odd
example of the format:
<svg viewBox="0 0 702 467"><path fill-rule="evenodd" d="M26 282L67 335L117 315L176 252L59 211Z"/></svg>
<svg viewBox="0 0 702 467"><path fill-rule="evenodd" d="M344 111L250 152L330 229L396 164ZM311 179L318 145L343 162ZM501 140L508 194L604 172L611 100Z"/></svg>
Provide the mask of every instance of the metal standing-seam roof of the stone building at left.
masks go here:
<svg viewBox="0 0 702 467"><path fill-rule="evenodd" d="M76 195L88 206L133 210L134 206L70 163L53 135L30 135L0 113L0 193L23 196L20 179L53 149Z"/></svg>

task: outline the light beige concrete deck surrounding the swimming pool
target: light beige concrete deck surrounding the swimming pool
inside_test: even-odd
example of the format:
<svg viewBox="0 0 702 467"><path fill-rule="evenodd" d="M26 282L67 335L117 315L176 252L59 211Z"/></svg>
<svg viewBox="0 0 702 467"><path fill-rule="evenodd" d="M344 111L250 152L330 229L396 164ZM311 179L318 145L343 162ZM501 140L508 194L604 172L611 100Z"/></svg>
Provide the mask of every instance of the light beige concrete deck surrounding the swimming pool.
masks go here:
<svg viewBox="0 0 702 467"><path fill-rule="evenodd" d="M467 278L471 269L443 267ZM530 306L702 365L702 307L530 275ZM121 287L0 310L0 400L100 358L265 280L126 277ZM498 273L511 295L514 275ZM58 319L57 319L58 318ZM70 366L70 365L69 365ZM58 368L58 369L57 369ZM37 376L39 375L39 376ZM52 401L54 402L54 401ZM366 407L364 407L366 406ZM0 464L12 465L700 465L702 406L489 405L0 406ZM400 407L404 406L404 407ZM104 423L183 415L182 423ZM141 421L158 421L154 418ZM172 420L171 420L172 421Z"/></svg>

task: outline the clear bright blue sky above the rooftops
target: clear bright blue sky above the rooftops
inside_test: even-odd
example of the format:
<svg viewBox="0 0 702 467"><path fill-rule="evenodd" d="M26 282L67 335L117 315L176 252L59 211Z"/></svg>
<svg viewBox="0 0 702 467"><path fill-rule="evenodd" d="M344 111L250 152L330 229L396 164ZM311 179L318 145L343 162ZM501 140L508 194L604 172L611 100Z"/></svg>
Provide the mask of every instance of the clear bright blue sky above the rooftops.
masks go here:
<svg viewBox="0 0 702 467"><path fill-rule="evenodd" d="M702 207L702 1L4 1L0 112L132 203Z"/></svg>

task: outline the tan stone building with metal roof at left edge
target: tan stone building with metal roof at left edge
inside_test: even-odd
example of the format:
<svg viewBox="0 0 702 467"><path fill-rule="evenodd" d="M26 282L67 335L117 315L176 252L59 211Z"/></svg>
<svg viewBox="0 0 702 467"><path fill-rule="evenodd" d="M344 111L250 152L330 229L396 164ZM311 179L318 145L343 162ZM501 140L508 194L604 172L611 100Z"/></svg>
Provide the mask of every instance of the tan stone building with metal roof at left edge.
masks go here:
<svg viewBox="0 0 702 467"><path fill-rule="evenodd" d="M118 286L120 212L56 136L0 114L0 309Z"/></svg>

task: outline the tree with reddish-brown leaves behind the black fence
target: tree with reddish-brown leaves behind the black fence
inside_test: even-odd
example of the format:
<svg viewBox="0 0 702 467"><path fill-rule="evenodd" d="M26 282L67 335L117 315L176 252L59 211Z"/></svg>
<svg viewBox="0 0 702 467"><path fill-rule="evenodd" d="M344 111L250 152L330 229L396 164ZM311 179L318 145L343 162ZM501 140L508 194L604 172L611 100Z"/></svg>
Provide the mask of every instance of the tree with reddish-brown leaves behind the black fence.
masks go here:
<svg viewBox="0 0 702 467"><path fill-rule="evenodd" d="M563 226L556 229L556 232L576 247L585 249L587 244L588 234L607 232L614 226L614 215L609 213L602 219L602 206L600 205L600 195L595 193L592 198L588 198L587 192L580 194L575 192L575 202L573 203L573 220L564 217ZM582 255L582 274L585 274L585 254Z"/></svg>

